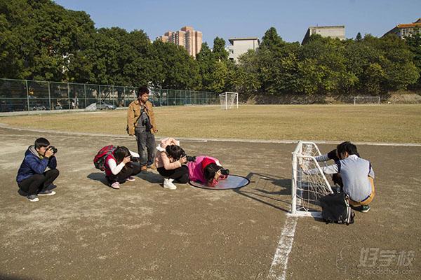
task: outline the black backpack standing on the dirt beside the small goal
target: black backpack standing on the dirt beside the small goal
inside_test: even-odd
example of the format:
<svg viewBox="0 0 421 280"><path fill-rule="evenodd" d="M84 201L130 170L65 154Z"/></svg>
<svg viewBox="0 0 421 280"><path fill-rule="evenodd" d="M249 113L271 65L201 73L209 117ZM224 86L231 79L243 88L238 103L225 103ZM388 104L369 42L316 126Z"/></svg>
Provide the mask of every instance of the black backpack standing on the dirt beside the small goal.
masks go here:
<svg viewBox="0 0 421 280"><path fill-rule="evenodd" d="M349 207L346 193L331 193L320 198L321 216L326 223L354 223L354 212Z"/></svg>

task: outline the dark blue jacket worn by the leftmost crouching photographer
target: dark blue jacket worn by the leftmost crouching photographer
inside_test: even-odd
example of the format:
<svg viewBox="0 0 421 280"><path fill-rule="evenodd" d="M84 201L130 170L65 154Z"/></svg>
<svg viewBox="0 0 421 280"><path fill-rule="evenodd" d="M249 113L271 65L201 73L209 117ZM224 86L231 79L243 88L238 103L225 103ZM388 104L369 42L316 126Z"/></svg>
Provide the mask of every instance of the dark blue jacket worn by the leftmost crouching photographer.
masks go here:
<svg viewBox="0 0 421 280"><path fill-rule="evenodd" d="M35 150L34 145L29 146L25 152L25 158L19 167L16 181L19 183L28 179L32 175L43 174L47 167L50 167L50 169L55 169L57 167L57 160L55 159L55 156L51 156L50 158L41 158Z"/></svg>

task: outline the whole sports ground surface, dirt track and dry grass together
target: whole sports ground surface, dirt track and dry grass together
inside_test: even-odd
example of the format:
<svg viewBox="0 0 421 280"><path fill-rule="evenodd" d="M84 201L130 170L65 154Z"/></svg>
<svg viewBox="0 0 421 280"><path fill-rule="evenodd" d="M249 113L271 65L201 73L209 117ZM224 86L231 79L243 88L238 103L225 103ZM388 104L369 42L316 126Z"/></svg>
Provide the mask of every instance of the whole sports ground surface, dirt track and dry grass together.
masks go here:
<svg viewBox="0 0 421 280"><path fill-rule="evenodd" d="M420 108L174 107L156 108L156 117L162 136L305 139L307 127L318 133L308 139L420 144ZM310 118L310 109L319 113ZM352 135L333 133L349 126L338 126L340 112L359 123ZM156 172L139 174L120 190L109 188L92 160L110 143L136 151L135 139L118 135L125 134L125 118L126 111L0 118L11 125L0 127L0 279L420 279L421 146L359 145L376 175L371 210L356 212L353 225L326 225L288 215L296 144L181 142L188 155L212 155L232 174L250 179L236 190L188 184L166 190ZM212 118L215 122L208 123ZM271 123L260 118L272 118L272 130L258 125ZM302 121L294 125L290 118ZM319 118L330 125L304 121L314 124ZM34 131L36 120L48 132ZM379 127L373 133L375 120L389 124L388 132ZM60 176L57 194L33 203L18 194L15 176L27 146L38 137L58 148ZM335 145L319 148L328 152Z"/></svg>

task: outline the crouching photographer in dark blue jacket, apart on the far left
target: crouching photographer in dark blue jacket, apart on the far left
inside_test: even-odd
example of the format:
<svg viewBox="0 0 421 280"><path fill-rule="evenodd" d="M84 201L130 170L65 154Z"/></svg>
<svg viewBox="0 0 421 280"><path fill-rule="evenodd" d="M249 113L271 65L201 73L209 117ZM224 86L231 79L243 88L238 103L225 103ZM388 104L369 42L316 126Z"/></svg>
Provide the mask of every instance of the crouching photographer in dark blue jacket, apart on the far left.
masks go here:
<svg viewBox="0 0 421 280"><path fill-rule="evenodd" d="M25 152L16 181L20 193L26 195L30 202L39 201L39 195L55 195L53 181L59 174L55 153L57 148L50 146L45 138L36 139L35 144Z"/></svg>

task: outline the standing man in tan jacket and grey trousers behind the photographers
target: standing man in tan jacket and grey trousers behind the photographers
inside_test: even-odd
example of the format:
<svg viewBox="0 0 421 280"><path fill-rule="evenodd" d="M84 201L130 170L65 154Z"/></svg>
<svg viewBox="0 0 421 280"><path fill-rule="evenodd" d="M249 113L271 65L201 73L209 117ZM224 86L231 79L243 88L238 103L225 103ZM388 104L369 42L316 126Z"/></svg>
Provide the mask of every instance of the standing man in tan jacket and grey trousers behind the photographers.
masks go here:
<svg viewBox="0 0 421 280"><path fill-rule="evenodd" d="M149 102L149 89L139 87L138 99L131 102L127 110L127 132L136 136L140 155L141 170L155 169L154 151L156 129L152 103Z"/></svg>

